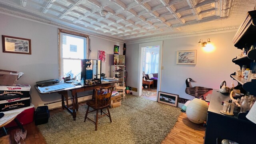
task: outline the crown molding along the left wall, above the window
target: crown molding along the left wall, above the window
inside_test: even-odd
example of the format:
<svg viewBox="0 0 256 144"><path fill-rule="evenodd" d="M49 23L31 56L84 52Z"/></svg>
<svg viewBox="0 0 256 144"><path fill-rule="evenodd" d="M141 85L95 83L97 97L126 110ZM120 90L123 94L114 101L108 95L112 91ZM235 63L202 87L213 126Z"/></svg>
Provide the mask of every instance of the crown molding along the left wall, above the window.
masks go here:
<svg viewBox="0 0 256 144"><path fill-rule="evenodd" d="M9 6L8 4L6 4L6 5ZM13 6L9 6L9 7L14 8ZM20 9L20 7L19 7L19 9ZM82 27L82 26L78 26L78 25L75 25L75 24L73 24L71 22L67 22L67 21L59 21L59 20L56 20L53 17L49 17L49 16L47 16L47 18L50 19L50 20L46 20L46 19L43 19L43 18L39 18L40 16L42 16L42 14L40 14L40 13L35 13L35 12L27 11L24 8L23 8L23 10L25 12L33 13L36 16L32 16L30 14L25 14L23 12L18 12L18 11L10 10L8 8L3 8L3 7L0 7L0 14L5 14L5 15L8 15L8 16L16 17L16 18L22 18L22 19L25 19L25 20L30 20L30 21L33 21L33 22L38 22L38 23L41 23L41 24L55 26L57 28L66 28L68 30L74 30L76 32L82 32L82 33L87 34L89 36L93 36L93 37L97 37L97 38L102 38L104 40L109 40L109 41L112 41L112 42L124 43L123 39L116 38L114 36L109 36L107 34L98 32L97 30L93 30L91 28L84 29L84 27ZM60 24L60 23L54 22L54 21L58 21L58 22L61 22L61 23L64 23L64 24ZM71 27L71 26L67 26L65 24L72 25L72 26L74 26L76 28Z"/></svg>

